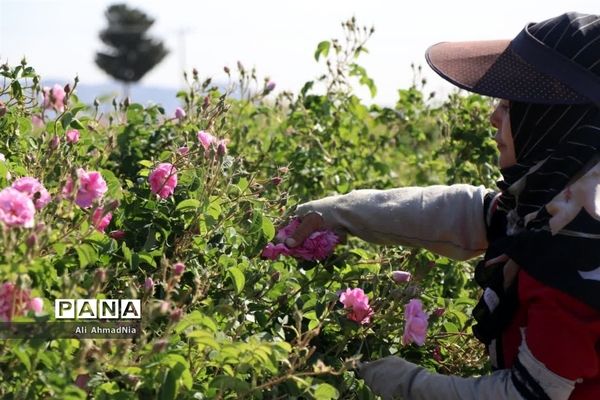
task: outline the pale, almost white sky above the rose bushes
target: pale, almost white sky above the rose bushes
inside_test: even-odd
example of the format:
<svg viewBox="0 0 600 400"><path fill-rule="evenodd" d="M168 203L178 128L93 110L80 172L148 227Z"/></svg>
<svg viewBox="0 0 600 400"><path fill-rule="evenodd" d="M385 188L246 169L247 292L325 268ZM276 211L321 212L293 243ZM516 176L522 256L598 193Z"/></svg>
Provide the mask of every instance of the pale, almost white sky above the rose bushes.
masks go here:
<svg viewBox="0 0 600 400"><path fill-rule="evenodd" d="M0 61L16 64L25 55L43 76L85 83L109 78L94 62L102 45L105 0L0 0ZM412 79L410 63L423 64L431 90L449 86L429 72L423 54L434 43L514 37L526 22L565 11L600 13L597 0L547 1L126 1L156 19L151 33L171 50L142 80L143 85L179 87L181 69L224 80L223 66L239 60L268 75L278 89L297 92L324 69L313 58L319 41L341 34L340 22L355 16L374 25L361 64L375 80L375 101L393 103ZM368 98L366 90L361 97Z"/></svg>

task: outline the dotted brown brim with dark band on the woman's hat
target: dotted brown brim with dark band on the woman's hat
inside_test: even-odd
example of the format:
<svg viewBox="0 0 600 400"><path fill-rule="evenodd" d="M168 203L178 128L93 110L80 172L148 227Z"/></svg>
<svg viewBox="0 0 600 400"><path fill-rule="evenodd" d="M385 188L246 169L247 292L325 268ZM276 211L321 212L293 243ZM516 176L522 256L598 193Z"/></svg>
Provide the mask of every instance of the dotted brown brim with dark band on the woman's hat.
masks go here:
<svg viewBox="0 0 600 400"><path fill-rule="evenodd" d="M429 47L425 59L442 78L481 95L539 104L590 101L525 62L510 40L442 42Z"/></svg>

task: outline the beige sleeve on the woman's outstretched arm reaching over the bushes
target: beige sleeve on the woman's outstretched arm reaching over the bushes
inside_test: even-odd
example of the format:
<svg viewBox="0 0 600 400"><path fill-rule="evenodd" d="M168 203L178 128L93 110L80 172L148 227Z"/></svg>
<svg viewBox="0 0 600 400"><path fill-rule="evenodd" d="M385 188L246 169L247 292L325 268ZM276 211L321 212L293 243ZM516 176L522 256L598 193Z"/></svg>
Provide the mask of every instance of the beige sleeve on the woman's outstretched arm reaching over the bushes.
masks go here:
<svg viewBox="0 0 600 400"><path fill-rule="evenodd" d="M322 215L331 229L377 244L423 247L457 260L487 248L483 186L354 190L300 205L296 215Z"/></svg>

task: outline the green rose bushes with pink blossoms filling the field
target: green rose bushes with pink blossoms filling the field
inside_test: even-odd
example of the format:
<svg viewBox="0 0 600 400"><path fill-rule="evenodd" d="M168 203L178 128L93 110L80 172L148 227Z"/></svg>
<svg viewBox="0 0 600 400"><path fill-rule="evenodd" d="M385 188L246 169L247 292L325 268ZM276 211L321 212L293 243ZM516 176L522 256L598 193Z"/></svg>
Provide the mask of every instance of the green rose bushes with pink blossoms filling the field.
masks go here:
<svg viewBox="0 0 600 400"><path fill-rule="evenodd" d="M350 83L376 92L359 64L373 30L342 27L298 93L242 63L226 89L193 70L173 115L0 67L0 320L142 302L136 339L0 339L1 398L371 399L353 367L394 353L488 370L472 263L329 232L278 243L311 199L498 176L485 99L440 99L414 68L395 105L366 106Z"/></svg>

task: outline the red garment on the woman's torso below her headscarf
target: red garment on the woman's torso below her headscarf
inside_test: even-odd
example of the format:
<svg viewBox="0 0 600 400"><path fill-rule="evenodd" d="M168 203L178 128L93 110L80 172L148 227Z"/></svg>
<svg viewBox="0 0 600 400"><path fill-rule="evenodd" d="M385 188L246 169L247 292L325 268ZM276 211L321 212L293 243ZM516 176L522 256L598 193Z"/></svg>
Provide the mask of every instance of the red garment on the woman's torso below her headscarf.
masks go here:
<svg viewBox="0 0 600 400"><path fill-rule="evenodd" d="M505 367L510 368L517 357L524 327L535 358L564 378L582 378L570 400L599 400L600 312L523 269L518 283L519 308L502 335Z"/></svg>

